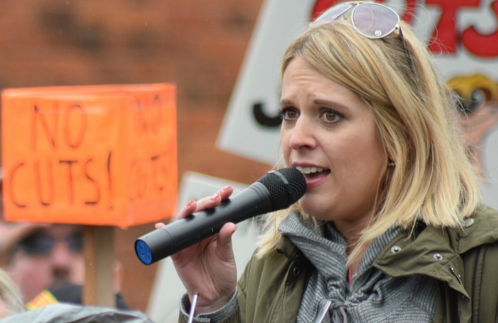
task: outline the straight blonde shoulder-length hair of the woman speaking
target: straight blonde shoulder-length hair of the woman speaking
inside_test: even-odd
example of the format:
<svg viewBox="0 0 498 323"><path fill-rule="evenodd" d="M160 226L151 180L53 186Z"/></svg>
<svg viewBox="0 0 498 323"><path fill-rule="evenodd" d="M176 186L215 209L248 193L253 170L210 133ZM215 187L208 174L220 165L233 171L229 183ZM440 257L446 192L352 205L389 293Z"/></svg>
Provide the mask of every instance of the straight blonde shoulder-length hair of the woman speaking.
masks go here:
<svg viewBox="0 0 498 323"><path fill-rule="evenodd" d="M400 25L404 40L398 31L373 40L355 31L349 19L324 23L295 39L282 60L282 75L300 58L361 97L373 111L386 156L396 162L381 174L374 214L349 261L393 224L462 226L480 202L477 176L453 119L452 92L425 46L406 23ZM287 212L268 217L258 256L275 248L277 226Z"/></svg>

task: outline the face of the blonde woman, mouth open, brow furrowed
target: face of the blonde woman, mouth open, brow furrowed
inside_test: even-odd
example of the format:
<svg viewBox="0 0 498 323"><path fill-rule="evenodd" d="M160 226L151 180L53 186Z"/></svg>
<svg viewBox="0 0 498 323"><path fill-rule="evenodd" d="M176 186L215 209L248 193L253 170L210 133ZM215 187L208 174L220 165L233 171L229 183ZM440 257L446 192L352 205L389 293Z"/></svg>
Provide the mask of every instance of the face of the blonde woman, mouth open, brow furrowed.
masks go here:
<svg viewBox="0 0 498 323"><path fill-rule="evenodd" d="M284 72L280 104L285 163L307 181L300 207L342 234L363 229L388 163L371 109L300 58Z"/></svg>

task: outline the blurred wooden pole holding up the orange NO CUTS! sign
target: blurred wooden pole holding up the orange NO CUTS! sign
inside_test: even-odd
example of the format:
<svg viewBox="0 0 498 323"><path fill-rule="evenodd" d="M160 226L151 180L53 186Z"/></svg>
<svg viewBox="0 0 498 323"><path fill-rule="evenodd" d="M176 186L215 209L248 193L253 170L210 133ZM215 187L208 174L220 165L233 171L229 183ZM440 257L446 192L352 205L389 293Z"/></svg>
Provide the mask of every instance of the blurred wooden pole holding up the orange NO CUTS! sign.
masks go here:
<svg viewBox="0 0 498 323"><path fill-rule="evenodd" d="M116 307L112 226L85 226L84 245L83 305Z"/></svg>

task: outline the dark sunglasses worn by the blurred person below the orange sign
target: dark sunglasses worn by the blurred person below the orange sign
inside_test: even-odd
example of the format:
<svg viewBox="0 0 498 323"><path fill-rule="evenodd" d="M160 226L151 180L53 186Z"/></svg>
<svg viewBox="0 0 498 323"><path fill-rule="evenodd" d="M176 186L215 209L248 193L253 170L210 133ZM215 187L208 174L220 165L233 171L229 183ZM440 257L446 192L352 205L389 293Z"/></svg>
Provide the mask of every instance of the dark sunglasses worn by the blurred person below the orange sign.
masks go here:
<svg viewBox="0 0 498 323"><path fill-rule="evenodd" d="M83 233L81 232L69 234L60 240L74 253L83 251ZM29 256L47 256L53 251L58 241L59 239L45 232L35 232L18 243L18 249L23 250Z"/></svg>

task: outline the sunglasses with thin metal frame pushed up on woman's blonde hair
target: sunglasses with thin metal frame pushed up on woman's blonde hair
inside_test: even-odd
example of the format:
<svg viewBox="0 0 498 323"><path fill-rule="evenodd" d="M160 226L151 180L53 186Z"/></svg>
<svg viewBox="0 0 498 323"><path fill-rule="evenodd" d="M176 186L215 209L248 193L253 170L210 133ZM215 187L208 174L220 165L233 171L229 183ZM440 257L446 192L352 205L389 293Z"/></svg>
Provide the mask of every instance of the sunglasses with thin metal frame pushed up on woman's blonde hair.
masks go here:
<svg viewBox="0 0 498 323"><path fill-rule="evenodd" d="M339 18L344 19L348 16L351 16L351 23L354 29L366 38L384 38L398 29L403 49L410 62L410 70L415 74L413 59L408 51L403 32L399 26L400 18L398 13L387 6L362 1L343 2L324 11L309 24L309 27L329 23Z"/></svg>

